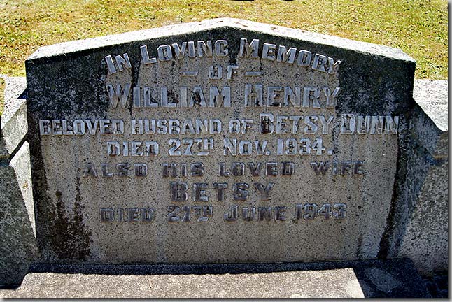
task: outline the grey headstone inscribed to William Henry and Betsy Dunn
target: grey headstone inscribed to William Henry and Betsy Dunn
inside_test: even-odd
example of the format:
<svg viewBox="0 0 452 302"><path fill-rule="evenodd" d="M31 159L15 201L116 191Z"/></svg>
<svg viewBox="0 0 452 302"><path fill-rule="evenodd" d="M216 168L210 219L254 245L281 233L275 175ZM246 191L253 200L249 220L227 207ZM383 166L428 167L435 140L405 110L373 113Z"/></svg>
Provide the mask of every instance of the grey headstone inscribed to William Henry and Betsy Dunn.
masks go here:
<svg viewBox="0 0 452 302"><path fill-rule="evenodd" d="M413 106L401 50L219 19L50 45L26 67L43 261L384 252Z"/></svg>

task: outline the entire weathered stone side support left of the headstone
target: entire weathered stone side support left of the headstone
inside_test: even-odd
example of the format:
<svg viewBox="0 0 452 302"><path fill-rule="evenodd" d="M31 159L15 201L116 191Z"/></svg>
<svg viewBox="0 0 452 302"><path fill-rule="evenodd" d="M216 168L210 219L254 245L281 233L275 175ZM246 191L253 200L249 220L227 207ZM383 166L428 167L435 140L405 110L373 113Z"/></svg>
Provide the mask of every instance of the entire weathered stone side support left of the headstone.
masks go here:
<svg viewBox="0 0 452 302"><path fill-rule="evenodd" d="M20 285L38 257L27 133L25 78L5 78L0 131L0 285Z"/></svg>

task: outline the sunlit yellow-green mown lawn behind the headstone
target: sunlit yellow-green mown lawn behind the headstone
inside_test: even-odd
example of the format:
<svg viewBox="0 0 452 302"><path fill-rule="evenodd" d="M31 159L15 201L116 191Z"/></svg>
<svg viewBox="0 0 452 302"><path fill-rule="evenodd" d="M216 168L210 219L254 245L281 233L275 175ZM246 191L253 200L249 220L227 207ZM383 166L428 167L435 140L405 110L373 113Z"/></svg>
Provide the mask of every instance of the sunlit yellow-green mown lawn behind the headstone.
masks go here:
<svg viewBox="0 0 452 302"><path fill-rule="evenodd" d="M42 45L237 17L401 48L416 59L416 78L447 78L445 0L52 2L0 0L0 73L25 75L24 60Z"/></svg>

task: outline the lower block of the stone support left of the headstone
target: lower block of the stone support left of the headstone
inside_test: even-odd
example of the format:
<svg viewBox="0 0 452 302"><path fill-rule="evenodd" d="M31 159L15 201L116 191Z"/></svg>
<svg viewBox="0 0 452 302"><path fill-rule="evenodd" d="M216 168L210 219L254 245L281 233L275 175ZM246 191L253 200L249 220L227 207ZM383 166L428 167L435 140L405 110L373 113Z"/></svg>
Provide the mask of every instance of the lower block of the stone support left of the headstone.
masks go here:
<svg viewBox="0 0 452 302"><path fill-rule="evenodd" d="M0 166L0 222L0 285L20 285L39 255L27 142Z"/></svg>

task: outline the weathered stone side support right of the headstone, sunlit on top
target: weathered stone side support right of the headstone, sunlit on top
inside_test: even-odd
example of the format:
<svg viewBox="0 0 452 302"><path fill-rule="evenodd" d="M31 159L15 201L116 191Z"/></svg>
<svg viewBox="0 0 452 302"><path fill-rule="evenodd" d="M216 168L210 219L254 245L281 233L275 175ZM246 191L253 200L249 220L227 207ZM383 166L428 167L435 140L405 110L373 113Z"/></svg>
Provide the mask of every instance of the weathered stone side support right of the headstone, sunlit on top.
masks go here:
<svg viewBox="0 0 452 302"><path fill-rule="evenodd" d="M397 257L413 259L423 275L449 267L447 82L416 80L418 103L409 151L409 220Z"/></svg>

